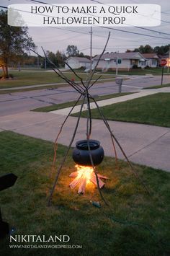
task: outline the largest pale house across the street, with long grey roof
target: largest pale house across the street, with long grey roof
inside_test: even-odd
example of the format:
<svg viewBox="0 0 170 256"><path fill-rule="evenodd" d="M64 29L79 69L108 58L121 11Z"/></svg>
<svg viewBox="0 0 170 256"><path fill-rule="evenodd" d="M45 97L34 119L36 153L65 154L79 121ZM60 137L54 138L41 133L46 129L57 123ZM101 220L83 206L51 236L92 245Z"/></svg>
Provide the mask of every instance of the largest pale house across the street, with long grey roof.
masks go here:
<svg viewBox="0 0 170 256"><path fill-rule="evenodd" d="M93 58L93 68L99 60L99 56ZM146 59L141 53L104 53L97 69L115 70L117 67L122 71L129 71L134 66L141 67L144 69L146 66Z"/></svg>

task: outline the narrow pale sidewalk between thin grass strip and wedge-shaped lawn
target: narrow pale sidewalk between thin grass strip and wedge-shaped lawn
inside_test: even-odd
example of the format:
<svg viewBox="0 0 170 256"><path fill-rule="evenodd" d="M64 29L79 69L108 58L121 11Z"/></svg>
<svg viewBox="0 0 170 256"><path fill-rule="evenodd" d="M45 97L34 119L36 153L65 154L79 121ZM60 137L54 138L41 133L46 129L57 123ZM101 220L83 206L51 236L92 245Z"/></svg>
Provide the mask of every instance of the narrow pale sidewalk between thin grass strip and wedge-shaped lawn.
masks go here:
<svg viewBox="0 0 170 256"><path fill-rule="evenodd" d="M108 99L108 100L100 100L97 102L97 104L99 105L99 107L104 107L107 105L112 105L115 103L119 103L119 102L125 102L127 100L133 100L133 99L137 99L140 97L145 97L151 94L156 94L159 92L170 92L170 87L163 87L163 88L159 88L159 89L141 89L139 92L137 93L133 93L133 94L128 94L122 97L115 97L112 99ZM97 108L97 106L95 105L94 102L90 103L90 107L91 109ZM68 113L71 111L72 107L66 107L63 108L61 110L53 110L51 111L51 113L53 114L57 114L57 115L68 115ZM73 111L71 112L72 114L79 112L81 108L81 105L77 105L76 107L74 107ZM87 110L87 106L86 104L83 107L82 111Z"/></svg>

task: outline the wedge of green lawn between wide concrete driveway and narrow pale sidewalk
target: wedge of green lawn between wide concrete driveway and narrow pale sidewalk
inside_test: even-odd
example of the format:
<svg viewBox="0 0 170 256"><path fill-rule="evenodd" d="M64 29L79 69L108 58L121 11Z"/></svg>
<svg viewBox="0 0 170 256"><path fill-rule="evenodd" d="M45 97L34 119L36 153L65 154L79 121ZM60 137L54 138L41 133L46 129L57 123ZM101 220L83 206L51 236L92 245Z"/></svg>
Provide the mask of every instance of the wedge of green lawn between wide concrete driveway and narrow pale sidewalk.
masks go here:
<svg viewBox="0 0 170 256"><path fill-rule="evenodd" d="M170 127L170 93L157 93L101 109L107 120ZM81 117L85 118L86 114L86 111L82 112ZM91 110L91 115L94 119L101 119L97 109Z"/></svg>

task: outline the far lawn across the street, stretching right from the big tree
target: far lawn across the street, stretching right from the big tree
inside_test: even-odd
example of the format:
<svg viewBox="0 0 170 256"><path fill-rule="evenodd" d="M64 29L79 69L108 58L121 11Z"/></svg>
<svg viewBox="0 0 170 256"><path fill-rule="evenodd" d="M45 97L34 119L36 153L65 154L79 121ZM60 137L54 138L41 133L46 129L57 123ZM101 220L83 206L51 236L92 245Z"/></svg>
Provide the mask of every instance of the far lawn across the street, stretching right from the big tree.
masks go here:
<svg viewBox="0 0 170 256"><path fill-rule="evenodd" d="M10 71L10 74L14 75L12 80L0 80L0 89L12 88L12 87L27 87L28 85L36 84L53 84L65 82L61 79L55 72L46 71ZM77 77L72 73L65 73L66 76L71 79L74 78L75 81L79 81ZM1 75L1 74L0 74ZM99 74L94 74L94 79L97 79ZM115 76L110 77L113 80ZM81 78L86 80L86 74L81 74ZM108 76L102 76L101 79L108 79ZM60 85L61 86L61 85ZM44 87L45 88L45 87Z"/></svg>

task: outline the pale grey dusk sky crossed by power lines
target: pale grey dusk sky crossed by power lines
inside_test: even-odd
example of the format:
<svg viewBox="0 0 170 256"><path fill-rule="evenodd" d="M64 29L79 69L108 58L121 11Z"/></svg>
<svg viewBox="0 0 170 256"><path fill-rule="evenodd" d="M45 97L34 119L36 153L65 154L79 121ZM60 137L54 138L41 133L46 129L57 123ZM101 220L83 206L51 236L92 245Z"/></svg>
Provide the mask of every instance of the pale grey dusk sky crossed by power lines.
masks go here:
<svg viewBox="0 0 170 256"><path fill-rule="evenodd" d="M48 4L95 4L90 0L73 0L73 1L53 1L42 0ZM102 4L159 4L161 5L161 25L156 27L145 27L148 31L139 29L137 27L117 27L117 29L125 30L127 32L110 30L102 27L93 27L92 34L92 55L102 52L104 44L107 40L109 31L111 36L107 45L108 52L118 51L125 52L127 49L133 50L140 45L149 44L152 47L167 45L170 43L170 1L169 0L99 0ZM1 0L1 6L8 6L9 4L32 4L30 0ZM102 6L102 5L101 5ZM143 17L144 19L145 17ZM114 27L113 27L114 28ZM78 50L86 55L90 54L90 27L29 27L29 34L32 37L37 50L41 54L41 46L45 50L50 50L55 53L60 50L66 53L68 45L76 45ZM145 35L133 35L130 32L137 32ZM164 35L165 32L169 35ZM162 38L155 38L149 36L156 36Z"/></svg>

